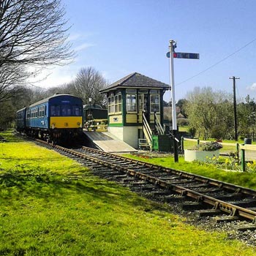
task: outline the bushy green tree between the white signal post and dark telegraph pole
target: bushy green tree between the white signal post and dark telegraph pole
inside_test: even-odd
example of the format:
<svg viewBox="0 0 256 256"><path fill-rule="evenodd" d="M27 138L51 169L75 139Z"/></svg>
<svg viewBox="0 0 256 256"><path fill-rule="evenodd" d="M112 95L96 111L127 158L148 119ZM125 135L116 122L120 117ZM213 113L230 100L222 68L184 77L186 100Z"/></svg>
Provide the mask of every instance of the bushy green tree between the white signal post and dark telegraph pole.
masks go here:
<svg viewBox="0 0 256 256"><path fill-rule="evenodd" d="M206 138L227 138L233 117L230 113L231 95L223 91L213 91L211 87L196 87L187 94L184 110L189 118L189 128Z"/></svg>

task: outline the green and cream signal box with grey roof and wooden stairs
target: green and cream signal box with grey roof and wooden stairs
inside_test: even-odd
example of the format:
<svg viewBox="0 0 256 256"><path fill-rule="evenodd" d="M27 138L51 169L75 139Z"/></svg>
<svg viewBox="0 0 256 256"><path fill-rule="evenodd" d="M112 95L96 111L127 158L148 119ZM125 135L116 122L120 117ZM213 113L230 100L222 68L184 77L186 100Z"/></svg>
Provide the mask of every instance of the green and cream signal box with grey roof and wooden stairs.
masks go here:
<svg viewBox="0 0 256 256"><path fill-rule="evenodd" d="M170 86L134 72L100 92L108 97L108 132L133 148L154 148L165 134L163 95ZM154 138L154 141L153 141Z"/></svg>

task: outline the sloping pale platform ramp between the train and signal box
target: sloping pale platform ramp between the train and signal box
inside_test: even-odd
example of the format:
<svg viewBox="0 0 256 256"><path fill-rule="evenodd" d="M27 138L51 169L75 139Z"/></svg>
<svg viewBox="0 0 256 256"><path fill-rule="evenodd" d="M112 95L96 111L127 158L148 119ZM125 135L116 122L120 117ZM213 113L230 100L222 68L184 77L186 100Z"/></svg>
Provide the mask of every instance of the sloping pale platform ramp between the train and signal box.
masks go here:
<svg viewBox="0 0 256 256"><path fill-rule="evenodd" d="M137 152L127 143L115 138L110 132L93 132L84 130L83 133L97 148L109 153L129 153Z"/></svg>

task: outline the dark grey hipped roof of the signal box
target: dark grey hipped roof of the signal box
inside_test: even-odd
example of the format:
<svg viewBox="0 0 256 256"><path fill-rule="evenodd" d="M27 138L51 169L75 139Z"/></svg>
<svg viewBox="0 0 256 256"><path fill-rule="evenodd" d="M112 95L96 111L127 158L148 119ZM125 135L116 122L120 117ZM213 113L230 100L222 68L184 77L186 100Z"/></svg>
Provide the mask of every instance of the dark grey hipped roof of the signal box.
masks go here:
<svg viewBox="0 0 256 256"><path fill-rule="evenodd" d="M132 74L127 75L124 78L116 81L115 83L110 84L110 86L101 89L100 92L105 93L111 91L113 89L117 89L120 87L125 88L154 88L154 89L170 89L170 86L166 83L159 82L152 78L146 77L146 75L141 75L138 72L134 72Z"/></svg>

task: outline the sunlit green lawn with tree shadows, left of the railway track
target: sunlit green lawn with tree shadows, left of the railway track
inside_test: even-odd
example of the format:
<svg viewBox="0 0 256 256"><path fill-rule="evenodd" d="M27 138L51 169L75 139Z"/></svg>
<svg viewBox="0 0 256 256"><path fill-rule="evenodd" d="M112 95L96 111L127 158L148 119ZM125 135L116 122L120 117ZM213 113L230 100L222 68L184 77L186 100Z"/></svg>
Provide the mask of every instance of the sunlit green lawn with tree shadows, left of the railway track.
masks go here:
<svg viewBox="0 0 256 256"><path fill-rule="evenodd" d="M0 255L256 254L55 151L9 141L0 143Z"/></svg>

